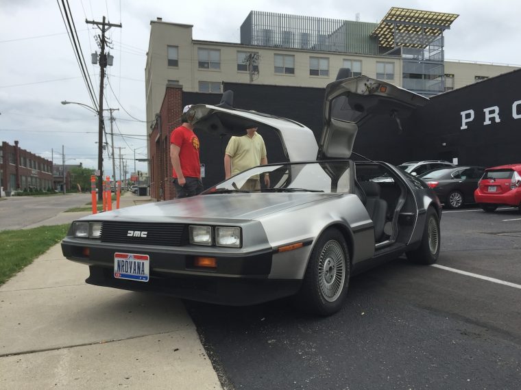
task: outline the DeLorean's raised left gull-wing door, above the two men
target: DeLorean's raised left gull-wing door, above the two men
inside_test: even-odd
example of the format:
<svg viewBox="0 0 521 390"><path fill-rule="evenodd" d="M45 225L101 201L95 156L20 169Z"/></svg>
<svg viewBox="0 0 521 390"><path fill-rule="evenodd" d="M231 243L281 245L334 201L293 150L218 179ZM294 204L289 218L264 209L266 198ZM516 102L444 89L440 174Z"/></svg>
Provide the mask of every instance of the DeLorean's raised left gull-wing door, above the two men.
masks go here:
<svg viewBox="0 0 521 390"><path fill-rule="evenodd" d="M254 111L195 104L187 112L196 129L215 135L244 135L246 125L263 131L275 131L289 161L311 161L317 157L317 141L313 131L295 120Z"/></svg>

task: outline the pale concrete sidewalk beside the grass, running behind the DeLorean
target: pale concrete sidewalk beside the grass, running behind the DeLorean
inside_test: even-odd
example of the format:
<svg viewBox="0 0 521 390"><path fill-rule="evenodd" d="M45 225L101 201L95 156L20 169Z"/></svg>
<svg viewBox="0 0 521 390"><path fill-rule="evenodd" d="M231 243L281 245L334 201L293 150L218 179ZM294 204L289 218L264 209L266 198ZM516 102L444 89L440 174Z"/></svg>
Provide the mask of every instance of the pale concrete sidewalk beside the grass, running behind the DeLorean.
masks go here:
<svg viewBox="0 0 521 390"><path fill-rule="evenodd" d="M181 300L87 276L58 244L0 287L1 389L221 389Z"/></svg>

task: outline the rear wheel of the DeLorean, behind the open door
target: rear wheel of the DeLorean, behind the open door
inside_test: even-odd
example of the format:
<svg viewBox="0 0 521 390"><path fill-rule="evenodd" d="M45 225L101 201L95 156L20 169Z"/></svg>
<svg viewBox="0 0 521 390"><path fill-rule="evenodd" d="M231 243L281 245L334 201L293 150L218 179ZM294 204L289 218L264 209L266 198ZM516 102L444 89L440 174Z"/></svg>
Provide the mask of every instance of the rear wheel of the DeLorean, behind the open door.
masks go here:
<svg viewBox="0 0 521 390"><path fill-rule="evenodd" d="M434 264L438 259L440 246L439 216L433 207L429 207L425 218L422 242L418 248L406 253L407 259L419 264Z"/></svg>

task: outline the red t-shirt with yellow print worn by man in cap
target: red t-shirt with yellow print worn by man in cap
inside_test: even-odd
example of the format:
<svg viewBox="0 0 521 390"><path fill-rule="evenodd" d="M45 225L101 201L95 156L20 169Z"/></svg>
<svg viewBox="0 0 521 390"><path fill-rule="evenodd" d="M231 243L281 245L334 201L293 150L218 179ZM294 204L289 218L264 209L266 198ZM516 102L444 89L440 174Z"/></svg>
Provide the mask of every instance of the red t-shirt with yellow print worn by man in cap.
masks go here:
<svg viewBox="0 0 521 390"><path fill-rule="evenodd" d="M170 135L170 143L180 147L179 160L184 177L201 177L199 163L199 138L190 129L180 126ZM173 177L178 177L172 169Z"/></svg>

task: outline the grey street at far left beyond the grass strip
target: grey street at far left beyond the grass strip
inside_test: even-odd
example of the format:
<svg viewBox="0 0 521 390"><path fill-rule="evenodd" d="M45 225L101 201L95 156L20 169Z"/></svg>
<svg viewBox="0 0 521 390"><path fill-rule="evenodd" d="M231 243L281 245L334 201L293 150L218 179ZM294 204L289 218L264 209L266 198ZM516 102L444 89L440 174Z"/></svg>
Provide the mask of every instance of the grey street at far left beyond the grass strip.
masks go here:
<svg viewBox="0 0 521 390"><path fill-rule="evenodd" d="M90 194L12 196L0 200L0 231L23 229L71 207L84 206Z"/></svg>

